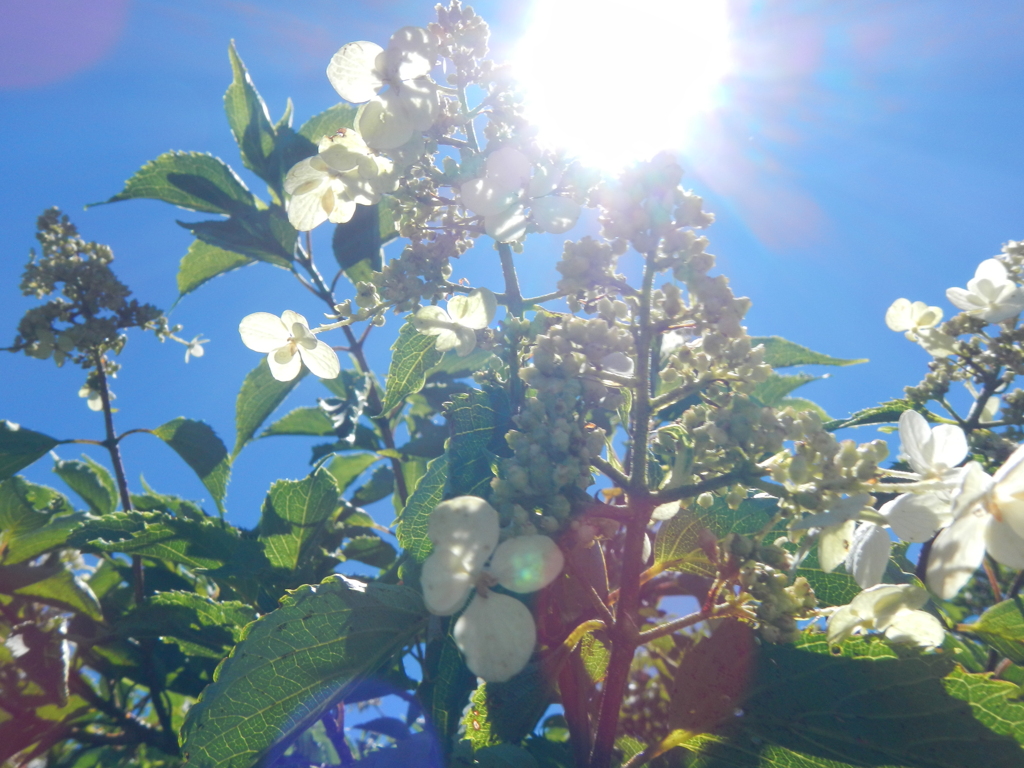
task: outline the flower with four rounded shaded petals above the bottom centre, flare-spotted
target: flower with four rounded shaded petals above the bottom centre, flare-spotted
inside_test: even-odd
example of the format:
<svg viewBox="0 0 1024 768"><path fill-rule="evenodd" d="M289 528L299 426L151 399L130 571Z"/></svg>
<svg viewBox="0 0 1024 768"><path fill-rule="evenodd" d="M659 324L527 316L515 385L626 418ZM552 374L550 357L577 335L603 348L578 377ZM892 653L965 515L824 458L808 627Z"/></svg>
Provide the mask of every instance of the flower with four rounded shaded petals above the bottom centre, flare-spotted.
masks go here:
<svg viewBox="0 0 1024 768"><path fill-rule="evenodd" d="M441 616L457 613L475 590L453 630L456 645L477 677L492 683L509 680L532 655L537 627L525 605L489 588L501 585L525 594L547 587L562 570L561 550L541 535L498 546L498 512L475 496L438 504L427 535L434 545L420 577L427 610Z"/></svg>

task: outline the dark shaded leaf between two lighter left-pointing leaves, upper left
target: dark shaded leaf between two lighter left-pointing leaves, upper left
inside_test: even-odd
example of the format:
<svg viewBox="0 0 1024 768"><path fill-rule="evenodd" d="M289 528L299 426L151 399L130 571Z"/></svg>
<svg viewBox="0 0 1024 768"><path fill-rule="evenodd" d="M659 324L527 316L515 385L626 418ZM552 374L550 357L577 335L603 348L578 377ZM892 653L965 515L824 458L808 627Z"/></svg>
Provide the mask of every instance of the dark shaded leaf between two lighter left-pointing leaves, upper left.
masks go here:
<svg viewBox="0 0 1024 768"><path fill-rule="evenodd" d="M177 223L207 245L285 269L290 268L298 237L285 209L276 205L246 209L228 219Z"/></svg>

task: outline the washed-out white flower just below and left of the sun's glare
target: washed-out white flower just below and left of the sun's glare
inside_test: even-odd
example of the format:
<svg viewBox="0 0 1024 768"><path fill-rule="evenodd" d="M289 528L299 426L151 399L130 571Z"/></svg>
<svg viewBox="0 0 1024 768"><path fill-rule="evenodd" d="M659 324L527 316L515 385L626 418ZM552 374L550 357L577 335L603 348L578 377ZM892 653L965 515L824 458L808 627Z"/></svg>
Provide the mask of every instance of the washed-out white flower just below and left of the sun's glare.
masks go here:
<svg viewBox="0 0 1024 768"><path fill-rule="evenodd" d="M555 195L561 170L548 165L534 170L526 156L511 146L490 153L484 169L483 176L463 182L459 195L466 208L483 216L483 228L499 243L521 240L530 219L539 230L560 234L580 218L579 203Z"/></svg>

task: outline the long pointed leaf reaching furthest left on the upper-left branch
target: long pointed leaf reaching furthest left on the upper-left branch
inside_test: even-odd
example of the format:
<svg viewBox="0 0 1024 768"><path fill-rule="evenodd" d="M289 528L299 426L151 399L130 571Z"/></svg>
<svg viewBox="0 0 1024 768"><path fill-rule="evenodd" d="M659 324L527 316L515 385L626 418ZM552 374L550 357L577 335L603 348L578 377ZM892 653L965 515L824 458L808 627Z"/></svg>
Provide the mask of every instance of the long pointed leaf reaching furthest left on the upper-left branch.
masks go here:
<svg viewBox="0 0 1024 768"><path fill-rule="evenodd" d="M169 152L152 160L125 182L125 188L103 203L162 200L204 213L239 213L256 200L242 179L219 158L198 152Z"/></svg>

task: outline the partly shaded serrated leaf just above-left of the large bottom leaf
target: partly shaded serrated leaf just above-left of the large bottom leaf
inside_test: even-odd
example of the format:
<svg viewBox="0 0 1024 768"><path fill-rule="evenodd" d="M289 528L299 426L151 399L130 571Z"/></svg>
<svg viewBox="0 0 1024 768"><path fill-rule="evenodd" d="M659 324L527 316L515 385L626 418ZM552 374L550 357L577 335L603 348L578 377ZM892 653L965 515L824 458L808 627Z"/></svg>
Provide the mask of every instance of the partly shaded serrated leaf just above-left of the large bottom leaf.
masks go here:
<svg viewBox="0 0 1024 768"><path fill-rule="evenodd" d="M255 609L237 600L211 600L194 592L159 592L115 625L124 638L166 638L183 653L223 658L256 618Z"/></svg>

